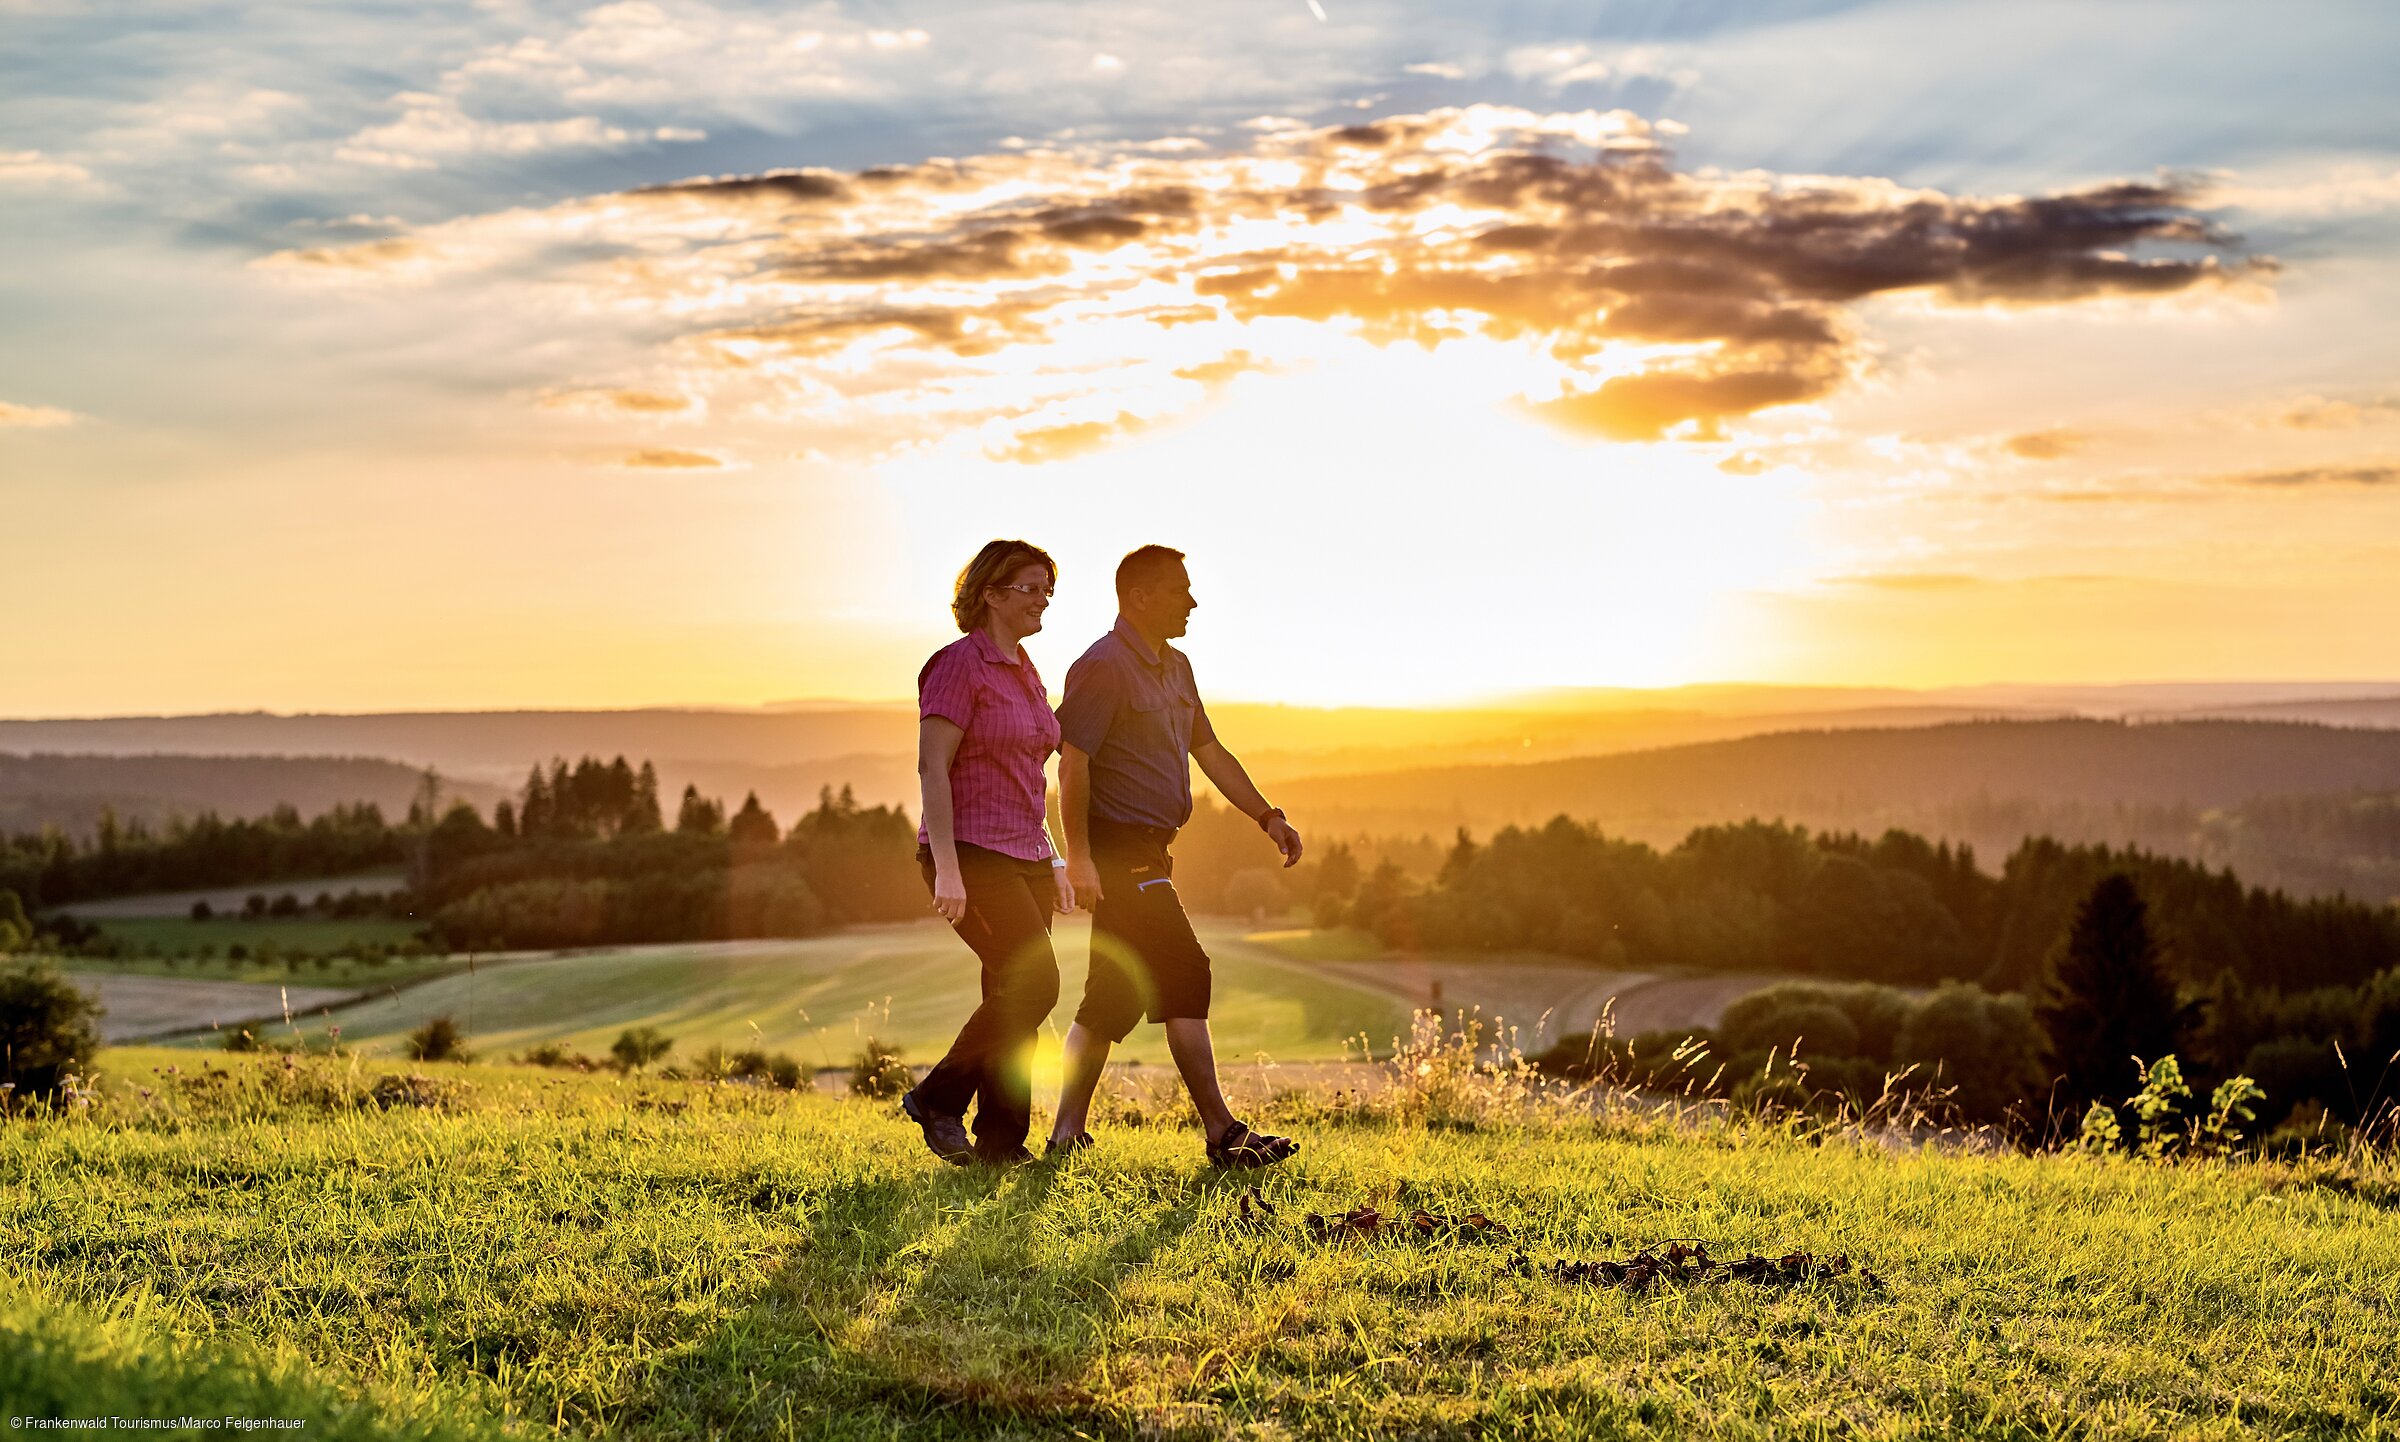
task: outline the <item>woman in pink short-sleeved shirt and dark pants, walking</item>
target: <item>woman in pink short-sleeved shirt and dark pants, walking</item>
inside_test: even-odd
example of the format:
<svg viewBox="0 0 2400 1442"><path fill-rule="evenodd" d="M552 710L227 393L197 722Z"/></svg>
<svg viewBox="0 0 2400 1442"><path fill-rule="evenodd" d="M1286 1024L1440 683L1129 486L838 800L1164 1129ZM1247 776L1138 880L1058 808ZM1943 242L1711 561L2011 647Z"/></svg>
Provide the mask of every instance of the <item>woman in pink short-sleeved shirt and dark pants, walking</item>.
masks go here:
<svg viewBox="0 0 2400 1442"><path fill-rule="evenodd" d="M1058 566L1037 545L996 540L974 552L950 600L965 636L917 672L917 866L934 909L984 962L984 1003L900 1111L955 1166L1032 1161L1034 1039L1058 1003L1049 919L1054 907L1075 909L1044 825L1042 765L1058 749L1058 717L1022 645L1042 629L1056 583Z"/></svg>

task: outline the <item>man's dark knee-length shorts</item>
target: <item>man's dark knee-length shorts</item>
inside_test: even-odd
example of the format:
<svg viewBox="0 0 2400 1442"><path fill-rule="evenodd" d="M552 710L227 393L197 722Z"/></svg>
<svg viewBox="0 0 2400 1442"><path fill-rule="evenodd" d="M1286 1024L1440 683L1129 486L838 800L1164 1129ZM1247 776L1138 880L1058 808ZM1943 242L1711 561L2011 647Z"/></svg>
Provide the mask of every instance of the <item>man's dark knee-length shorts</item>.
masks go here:
<svg viewBox="0 0 2400 1442"><path fill-rule="evenodd" d="M1109 1041L1123 1041L1145 1015L1207 1017L1207 953L1176 897L1176 861L1166 854L1174 835L1092 818L1102 902L1092 909L1092 974L1075 1022Z"/></svg>

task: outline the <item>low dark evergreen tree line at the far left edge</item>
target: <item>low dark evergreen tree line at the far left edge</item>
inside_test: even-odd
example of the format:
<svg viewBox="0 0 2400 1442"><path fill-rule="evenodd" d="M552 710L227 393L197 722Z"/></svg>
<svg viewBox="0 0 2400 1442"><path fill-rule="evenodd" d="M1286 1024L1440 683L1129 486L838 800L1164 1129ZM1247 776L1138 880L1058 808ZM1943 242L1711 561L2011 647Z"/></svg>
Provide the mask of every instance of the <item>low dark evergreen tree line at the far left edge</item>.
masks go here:
<svg viewBox="0 0 2400 1442"><path fill-rule="evenodd" d="M334 806L312 821L286 804L250 821L202 811L158 828L101 811L89 842L55 828L0 840L0 890L26 907L67 907L149 890L343 876L401 864L415 830L422 818L394 828L374 801Z"/></svg>

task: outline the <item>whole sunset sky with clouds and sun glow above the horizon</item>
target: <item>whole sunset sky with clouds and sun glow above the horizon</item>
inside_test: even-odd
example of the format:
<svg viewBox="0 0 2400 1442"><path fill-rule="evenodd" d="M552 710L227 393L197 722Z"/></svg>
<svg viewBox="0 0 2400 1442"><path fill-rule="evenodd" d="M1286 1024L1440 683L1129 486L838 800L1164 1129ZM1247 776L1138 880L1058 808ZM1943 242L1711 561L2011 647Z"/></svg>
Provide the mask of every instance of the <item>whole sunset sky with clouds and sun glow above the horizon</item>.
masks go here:
<svg viewBox="0 0 2400 1442"><path fill-rule="evenodd" d="M2400 7L0 0L0 715L2400 679Z"/></svg>

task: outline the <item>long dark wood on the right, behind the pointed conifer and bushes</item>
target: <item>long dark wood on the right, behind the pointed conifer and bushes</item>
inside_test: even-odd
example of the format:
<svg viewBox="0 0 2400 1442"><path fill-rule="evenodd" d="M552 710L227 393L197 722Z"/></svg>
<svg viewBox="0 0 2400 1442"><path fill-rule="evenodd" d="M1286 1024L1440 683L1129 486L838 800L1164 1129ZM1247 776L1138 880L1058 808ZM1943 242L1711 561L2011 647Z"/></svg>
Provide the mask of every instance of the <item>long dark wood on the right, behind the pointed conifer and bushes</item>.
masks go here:
<svg viewBox="0 0 2400 1442"><path fill-rule="evenodd" d="M1565 816L1488 842L1459 833L1430 885L1380 866L1346 914L1428 950L2021 991L2112 871L2138 881L2170 965L2194 986L2225 974L2275 991L2357 986L2400 965L2390 907L2294 900L2191 861L2038 837L1990 876L1970 847L1762 821L1697 828L1666 852Z"/></svg>

